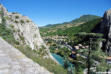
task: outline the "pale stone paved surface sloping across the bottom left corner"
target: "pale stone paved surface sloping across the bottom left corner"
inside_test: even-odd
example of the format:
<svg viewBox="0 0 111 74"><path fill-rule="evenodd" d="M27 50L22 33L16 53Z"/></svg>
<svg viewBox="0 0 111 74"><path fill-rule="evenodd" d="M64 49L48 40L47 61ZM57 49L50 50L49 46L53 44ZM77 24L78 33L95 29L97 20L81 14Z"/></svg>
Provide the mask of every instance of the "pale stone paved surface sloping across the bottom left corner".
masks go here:
<svg viewBox="0 0 111 74"><path fill-rule="evenodd" d="M0 74L51 74L0 38Z"/></svg>

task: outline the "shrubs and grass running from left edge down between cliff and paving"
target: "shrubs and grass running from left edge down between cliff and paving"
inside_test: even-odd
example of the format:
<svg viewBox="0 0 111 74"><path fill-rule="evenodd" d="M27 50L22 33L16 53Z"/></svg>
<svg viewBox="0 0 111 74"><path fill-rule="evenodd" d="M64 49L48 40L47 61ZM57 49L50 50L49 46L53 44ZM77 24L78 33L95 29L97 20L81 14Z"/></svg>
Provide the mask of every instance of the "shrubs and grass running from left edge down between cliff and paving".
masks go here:
<svg viewBox="0 0 111 74"><path fill-rule="evenodd" d="M4 15L3 12L0 14ZM47 70L50 72L53 72L54 74L67 74L67 71L61 67L61 65L55 63L50 58L44 58L44 54L46 54L46 51L44 51L44 47L39 51L34 51L30 48L28 45L20 44L18 41L15 40L13 35L13 26L10 25L12 28L6 27L6 19L2 16L2 23L0 24L0 36L12 44L14 47L18 48L22 53L24 53L27 57L31 58L33 61L37 62L41 66L44 66ZM18 22L16 22L18 23ZM21 21L21 23L24 23ZM19 30L18 30L19 31ZM24 41L23 36L20 35L20 38L22 41Z"/></svg>

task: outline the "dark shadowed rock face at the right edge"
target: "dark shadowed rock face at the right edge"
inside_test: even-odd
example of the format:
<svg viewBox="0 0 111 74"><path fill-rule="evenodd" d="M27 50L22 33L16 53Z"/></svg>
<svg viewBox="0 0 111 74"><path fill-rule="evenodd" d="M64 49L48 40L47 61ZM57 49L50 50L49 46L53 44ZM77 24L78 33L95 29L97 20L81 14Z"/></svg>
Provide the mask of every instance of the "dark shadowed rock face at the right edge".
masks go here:
<svg viewBox="0 0 111 74"><path fill-rule="evenodd" d="M101 32L106 38L105 49L108 55L111 56L111 9L107 10L103 16Z"/></svg>

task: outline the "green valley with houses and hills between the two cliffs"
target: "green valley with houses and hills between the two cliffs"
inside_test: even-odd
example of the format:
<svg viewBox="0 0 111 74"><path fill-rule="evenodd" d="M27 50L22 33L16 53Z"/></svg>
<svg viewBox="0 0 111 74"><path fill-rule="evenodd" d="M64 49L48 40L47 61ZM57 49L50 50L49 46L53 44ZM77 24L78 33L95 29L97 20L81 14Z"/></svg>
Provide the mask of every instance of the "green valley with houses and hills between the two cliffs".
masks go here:
<svg viewBox="0 0 111 74"><path fill-rule="evenodd" d="M85 21L86 19L87 21ZM105 63L108 56L105 53L107 50L102 44L105 42L105 38L100 30L103 20L99 16L83 15L73 20L73 23L65 22L40 27L40 34L50 52L63 58L63 60L59 60L64 61L62 66L71 74L82 74L86 68L90 73L95 70L104 72L109 66ZM55 58L58 60L59 57L55 56ZM102 61L99 61L100 59ZM95 65L96 69L90 70ZM75 70L76 72L74 72Z"/></svg>

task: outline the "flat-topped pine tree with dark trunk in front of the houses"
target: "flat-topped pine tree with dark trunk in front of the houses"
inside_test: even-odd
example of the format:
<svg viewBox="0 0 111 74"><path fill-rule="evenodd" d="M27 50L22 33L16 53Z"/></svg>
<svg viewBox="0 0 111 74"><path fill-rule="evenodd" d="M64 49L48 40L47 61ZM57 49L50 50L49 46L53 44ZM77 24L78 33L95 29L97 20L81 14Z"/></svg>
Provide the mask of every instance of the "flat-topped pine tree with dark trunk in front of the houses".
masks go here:
<svg viewBox="0 0 111 74"><path fill-rule="evenodd" d="M96 68L96 70L106 71L106 54L101 50L100 42L104 41L102 34L99 33L78 33L77 36L87 37L88 39L88 49L77 50L77 53L80 55L79 60L87 68L87 74L92 72L91 68ZM78 57L77 57L78 58ZM80 59L81 58L81 59ZM84 62L86 62L84 64ZM77 64L77 63L76 63ZM102 69L100 69L102 68ZM94 70L94 69L93 69Z"/></svg>

